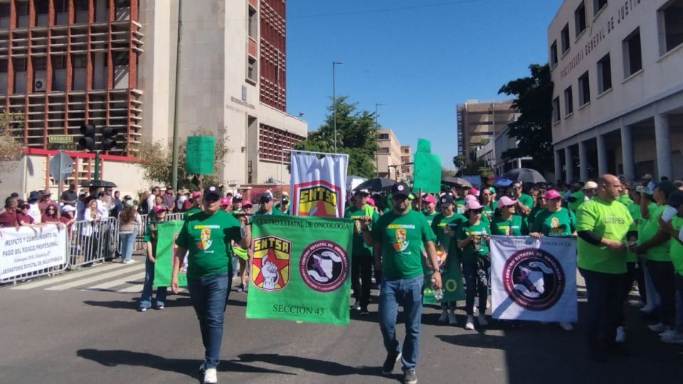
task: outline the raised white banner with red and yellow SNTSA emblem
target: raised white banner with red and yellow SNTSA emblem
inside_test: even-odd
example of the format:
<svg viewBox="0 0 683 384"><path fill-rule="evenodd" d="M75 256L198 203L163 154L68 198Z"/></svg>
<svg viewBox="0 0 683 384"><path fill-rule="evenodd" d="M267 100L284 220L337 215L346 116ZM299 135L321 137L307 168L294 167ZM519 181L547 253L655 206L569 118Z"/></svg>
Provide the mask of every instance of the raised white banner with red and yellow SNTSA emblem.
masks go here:
<svg viewBox="0 0 683 384"><path fill-rule="evenodd" d="M349 155L291 153L292 215L343 218Z"/></svg>

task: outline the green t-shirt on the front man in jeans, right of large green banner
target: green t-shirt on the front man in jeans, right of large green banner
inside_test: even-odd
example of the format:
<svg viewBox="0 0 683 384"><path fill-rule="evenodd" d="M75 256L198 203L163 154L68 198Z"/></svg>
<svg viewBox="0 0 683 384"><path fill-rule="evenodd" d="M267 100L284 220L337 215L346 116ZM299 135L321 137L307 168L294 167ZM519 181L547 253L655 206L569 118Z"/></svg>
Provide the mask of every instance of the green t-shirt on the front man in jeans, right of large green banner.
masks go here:
<svg viewBox="0 0 683 384"><path fill-rule="evenodd" d="M407 279L423 273L423 245L436 237L425 215L408 210L403 215L393 211L382 215L372 228L372 238L381 242L383 275Z"/></svg>

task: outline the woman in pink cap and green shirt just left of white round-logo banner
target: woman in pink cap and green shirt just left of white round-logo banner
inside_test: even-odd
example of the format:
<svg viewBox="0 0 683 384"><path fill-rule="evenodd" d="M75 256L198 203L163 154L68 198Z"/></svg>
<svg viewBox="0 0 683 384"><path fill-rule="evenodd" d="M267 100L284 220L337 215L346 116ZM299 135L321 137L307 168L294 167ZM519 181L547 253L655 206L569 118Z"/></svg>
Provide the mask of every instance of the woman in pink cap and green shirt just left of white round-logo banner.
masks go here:
<svg viewBox="0 0 683 384"><path fill-rule="evenodd" d="M476 200L467 201L465 216L467 221L460 225L455 235L457 247L462 255L462 274L465 275L465 329L475 329L475 296L479 295L479 325L487 326L486 302L489 292L489 225L482 220L483 206Z"/></svg>

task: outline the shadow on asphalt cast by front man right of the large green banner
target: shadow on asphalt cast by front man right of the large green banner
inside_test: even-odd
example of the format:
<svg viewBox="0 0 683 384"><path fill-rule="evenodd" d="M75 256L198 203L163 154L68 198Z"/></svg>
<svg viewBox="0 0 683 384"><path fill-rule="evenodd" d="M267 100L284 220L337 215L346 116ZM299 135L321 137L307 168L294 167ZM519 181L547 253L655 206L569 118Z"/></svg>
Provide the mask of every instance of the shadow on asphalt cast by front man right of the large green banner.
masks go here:
<svg viewBox="0 0 683 384"><path fill-rule="evenodd" d="M268 363L277 366L299 368L307 372L320 373L328 376L367 375L381 376L381 367L361 366L351 367L333 361L322 361L314 358L300 356L282 356L274 353L243 353L238 355L239 360L231 360L231 363ZM393 377L393 376L392 376ZM401 376L396 375L396 378Z"/></svg>

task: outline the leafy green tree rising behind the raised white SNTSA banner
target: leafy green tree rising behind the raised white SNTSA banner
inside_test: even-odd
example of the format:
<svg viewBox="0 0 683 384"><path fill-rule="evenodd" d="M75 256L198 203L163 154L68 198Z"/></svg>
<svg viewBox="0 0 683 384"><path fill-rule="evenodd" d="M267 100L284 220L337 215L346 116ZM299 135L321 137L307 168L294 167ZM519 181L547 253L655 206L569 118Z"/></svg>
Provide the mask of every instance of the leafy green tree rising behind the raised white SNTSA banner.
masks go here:
<svg viewBox="0 0 683 384"><path fill-rule="evenodd" d="M378 131L374 113L356 111L357 103L346 102L346 96L339 96L334 101L337 105L337 137L334 137L334 108L330 105L325 122L317 130L309 132L308 138L298 143L295 149L334 153L336 141L336 152L349 155L350 175L374 177Z"/></svg>

